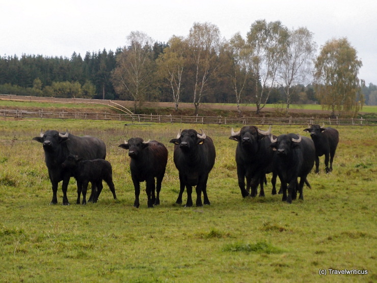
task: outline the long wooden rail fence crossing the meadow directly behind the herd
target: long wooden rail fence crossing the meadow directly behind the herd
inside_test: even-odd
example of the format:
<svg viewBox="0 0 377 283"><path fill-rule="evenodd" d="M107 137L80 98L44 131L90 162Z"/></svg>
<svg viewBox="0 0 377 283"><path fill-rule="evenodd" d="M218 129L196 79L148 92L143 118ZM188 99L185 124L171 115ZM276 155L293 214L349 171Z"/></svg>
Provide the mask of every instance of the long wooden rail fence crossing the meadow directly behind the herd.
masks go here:
<svg viewBox="0 0 377 283"><path fill-rule="evenodd" d="M130 123L189 123L189 124L256 124L256 125L359 125L377 126L377 119L321 119L321 118L230 118L204 116L172 116L172 115L139 115L113 114L106 112L51 112L0 109L0 116L14 118L55 118L55 119L84 119L84 120L118 120Z"/></svg>

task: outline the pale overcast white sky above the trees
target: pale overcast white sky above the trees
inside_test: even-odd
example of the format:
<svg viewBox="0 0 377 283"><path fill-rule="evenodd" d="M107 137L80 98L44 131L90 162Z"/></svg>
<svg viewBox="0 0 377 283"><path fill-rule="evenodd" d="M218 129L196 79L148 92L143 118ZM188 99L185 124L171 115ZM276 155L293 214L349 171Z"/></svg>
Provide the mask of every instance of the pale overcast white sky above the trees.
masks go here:
<svg viewBox="0 0 377 283"><path fill-rule="evenodd" d="M376 0L0 0L0 56L66 56L113 50L132 31L167 42L186 37L194 22L210 22L229 40L246 37L259 19L305 26L320 46L347 37L363 66L359 78L377 84Z"/></svg>

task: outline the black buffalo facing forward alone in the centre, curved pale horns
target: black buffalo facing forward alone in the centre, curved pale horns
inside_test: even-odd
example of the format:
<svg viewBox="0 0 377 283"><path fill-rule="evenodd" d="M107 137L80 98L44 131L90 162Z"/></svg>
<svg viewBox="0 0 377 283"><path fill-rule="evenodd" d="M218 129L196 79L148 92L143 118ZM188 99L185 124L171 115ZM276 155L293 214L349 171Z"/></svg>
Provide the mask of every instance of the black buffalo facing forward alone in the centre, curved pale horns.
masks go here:
<svg viewBox="0 0 377 283"><path fill-rule="evenodd" d="M199 134L196 130L179 130L177 137L170 140L174 146L174 164L179 172L180 190L176 203L182 204L184 188L187 190L186 207L193 206L192 192L196 186L196 206L209 205L207 196L208 174L214 165L216 150L213 141L203 130Z"/></svg>

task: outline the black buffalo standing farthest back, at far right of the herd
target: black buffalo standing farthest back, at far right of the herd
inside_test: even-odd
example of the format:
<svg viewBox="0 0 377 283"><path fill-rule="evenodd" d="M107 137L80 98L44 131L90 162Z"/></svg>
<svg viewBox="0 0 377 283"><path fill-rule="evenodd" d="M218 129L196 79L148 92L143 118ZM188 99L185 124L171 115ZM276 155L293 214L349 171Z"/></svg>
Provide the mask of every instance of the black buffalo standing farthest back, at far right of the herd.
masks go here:
<svg viewBox="0 0 377 283"><path fill-rule="evenodd" d="M310 133L315 146L315 173L319 172L319 156L325 154L326 173L333 171L333 160L339 142L339 132L331 127L311 125L304 131ZM330 159L330 168L329 168Z"/></svg>

